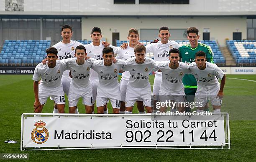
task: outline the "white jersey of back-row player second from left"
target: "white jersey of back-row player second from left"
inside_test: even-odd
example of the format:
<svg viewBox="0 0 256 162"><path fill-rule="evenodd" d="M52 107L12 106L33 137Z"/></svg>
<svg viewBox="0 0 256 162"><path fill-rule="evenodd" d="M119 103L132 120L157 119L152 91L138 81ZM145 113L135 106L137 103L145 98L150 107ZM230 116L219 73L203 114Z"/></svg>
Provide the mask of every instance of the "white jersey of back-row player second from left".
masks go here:
<svg viewBox="0 0 256 162"><path fill-rule="evenodd" d="M95 58L96 60L103 60L102 58L102 50L104 48L104 45L100 42L100 45L95 46L92 43L84 45L86 49L86 53L88 57ZM114 54L117 53L118 47L115 47L113 45L109 45L109 47L112 47L114 50ZM90 72L90 78L91 79L98 79L98 74L94 70L91 70Z"/></svg>

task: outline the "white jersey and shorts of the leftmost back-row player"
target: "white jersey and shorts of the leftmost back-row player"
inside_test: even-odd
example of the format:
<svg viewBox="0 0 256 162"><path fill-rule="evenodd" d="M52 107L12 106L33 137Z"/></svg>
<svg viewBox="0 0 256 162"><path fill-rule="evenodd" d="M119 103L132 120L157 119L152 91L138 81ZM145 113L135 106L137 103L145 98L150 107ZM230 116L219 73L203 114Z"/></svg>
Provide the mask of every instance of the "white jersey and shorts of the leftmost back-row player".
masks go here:
<svg viewBox="0 0 256 162"><path fill-rule="evenodd" d="M75 49L77 46L83 45L80 42L71 40L70 43L62 43L61 41L53 45L58 50L58 59L67 59L67 58L74 58ZM63 85L63 90L66 95L69 95L69 85L71 82L71 77L69 77L69 70L63 73L63 77L61 79L61 84Z"/></svg>

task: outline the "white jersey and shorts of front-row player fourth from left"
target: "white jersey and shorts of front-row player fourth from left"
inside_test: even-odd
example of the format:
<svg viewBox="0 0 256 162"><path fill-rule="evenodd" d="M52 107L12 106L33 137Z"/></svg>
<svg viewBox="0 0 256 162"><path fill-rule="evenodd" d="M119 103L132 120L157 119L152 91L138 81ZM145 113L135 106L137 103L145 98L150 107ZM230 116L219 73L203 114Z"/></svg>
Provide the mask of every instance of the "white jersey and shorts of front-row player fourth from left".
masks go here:
<svg viewBox="0 0 256 162"><path fill-rule="evenodd" d="M156 62L148 57L142 64L135 61L135 57L125 61L123 71L130 72L131 76L127 85L125 106L134 106L136 101L143 101L144 106L151 107L151 85L149 74L158 70Z"/></svg>

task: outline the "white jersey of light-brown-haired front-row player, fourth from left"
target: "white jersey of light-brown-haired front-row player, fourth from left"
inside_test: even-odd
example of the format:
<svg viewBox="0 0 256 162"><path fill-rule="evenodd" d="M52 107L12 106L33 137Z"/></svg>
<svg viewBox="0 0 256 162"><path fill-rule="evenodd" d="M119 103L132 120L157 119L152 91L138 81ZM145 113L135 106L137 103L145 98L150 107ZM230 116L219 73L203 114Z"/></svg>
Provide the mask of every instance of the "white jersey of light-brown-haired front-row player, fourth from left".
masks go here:
<svg viewBox="0 0 256 162"><path fill-rule="evenodd" d="M128 85L143 88L149 84L148 75L150 72L158 70L158 67L156 62L151 58L145 57L145 61L142 64L138 64L135 59L136 58L133 57L126 60L123 71L128 71L131 74Z"/></svg>

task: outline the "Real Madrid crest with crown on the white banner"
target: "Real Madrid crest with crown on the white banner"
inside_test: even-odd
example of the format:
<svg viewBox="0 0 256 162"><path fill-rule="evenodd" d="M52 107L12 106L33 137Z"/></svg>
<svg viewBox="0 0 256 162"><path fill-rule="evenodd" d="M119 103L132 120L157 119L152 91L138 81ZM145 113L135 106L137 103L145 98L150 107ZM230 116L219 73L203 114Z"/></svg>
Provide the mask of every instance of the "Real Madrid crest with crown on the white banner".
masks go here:
<svg viewBox="0 0 256 162"><path fill-rule="evenodd" d="M32 130L31 132L31 139L33 142L37 144L42 144L48 140L49 132L45 128L46 123L42 120L39 120L34 125L36 128Z"/></svg>

